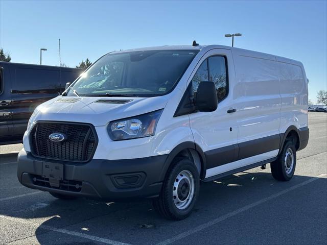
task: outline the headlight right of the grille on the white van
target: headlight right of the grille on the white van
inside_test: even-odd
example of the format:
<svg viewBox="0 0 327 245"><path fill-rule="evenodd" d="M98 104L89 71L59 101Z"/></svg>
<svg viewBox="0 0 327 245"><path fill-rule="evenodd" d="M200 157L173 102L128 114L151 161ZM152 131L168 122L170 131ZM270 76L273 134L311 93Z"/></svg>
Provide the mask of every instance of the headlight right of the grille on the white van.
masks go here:
<svg viewBox="0 0 327 245"><path fill-rule="evenodd" d="M154 135L162 110L111 121L108 133L112 140L135 139Z"/></svg>

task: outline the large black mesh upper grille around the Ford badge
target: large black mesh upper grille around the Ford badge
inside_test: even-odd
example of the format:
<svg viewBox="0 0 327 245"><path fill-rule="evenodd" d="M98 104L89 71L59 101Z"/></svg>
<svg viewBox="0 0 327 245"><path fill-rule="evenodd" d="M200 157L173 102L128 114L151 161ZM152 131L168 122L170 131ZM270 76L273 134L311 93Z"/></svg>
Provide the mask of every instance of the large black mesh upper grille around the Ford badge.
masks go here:
<svg viewBox="0 0 327 245"><path fill-rule="evenodd" d="M61 133L65 140L54 142L49 135ZM90 125L69 122L37 122L30 137L33 155L63 161L86 162L97 146L97 136Z"/></svg>

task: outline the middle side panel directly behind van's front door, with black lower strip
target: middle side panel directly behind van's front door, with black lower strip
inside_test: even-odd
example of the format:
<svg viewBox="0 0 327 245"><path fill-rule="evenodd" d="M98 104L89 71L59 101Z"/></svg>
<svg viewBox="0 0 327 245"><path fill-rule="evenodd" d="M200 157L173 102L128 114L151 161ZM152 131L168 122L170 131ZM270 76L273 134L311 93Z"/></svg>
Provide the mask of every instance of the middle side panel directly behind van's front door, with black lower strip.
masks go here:
<svg viewBox="0 0 327 245"><path fill-rule="evenodd" d="M233 57L239 158L279 149L281 95L275 57L239 50L233 51ZM249 149L252 149L250 153Z"/></svg>

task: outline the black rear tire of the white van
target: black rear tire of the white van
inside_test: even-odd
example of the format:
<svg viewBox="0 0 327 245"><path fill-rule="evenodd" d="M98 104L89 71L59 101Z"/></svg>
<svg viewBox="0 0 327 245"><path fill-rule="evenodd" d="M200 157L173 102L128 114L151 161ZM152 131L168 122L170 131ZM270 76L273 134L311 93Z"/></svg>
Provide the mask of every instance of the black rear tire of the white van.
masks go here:
<svg viewBox="0 0 327 245"><path fill-rule="evenodd" d="M290 151L293 154L293 165L292 168L287 170L288 165L291 165L290 158L287 157L290 155ZM287 163L286 163L287 162ZM288 165L287 165L288 164ZM294 141L286 141L283 147L281 154L278 158L270 163L271 174L274 179L278 181L289 181L292 179L296 166L296 149Z"/></svg>

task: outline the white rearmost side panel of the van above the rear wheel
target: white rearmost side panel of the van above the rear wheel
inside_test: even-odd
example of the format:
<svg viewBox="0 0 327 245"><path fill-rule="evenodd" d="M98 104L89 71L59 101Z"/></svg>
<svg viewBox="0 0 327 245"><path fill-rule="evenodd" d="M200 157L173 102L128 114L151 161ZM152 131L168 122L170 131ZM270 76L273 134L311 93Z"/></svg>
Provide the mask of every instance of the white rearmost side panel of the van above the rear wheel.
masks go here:
<svg viewBox="0 0 327 245"><path fill-rule="evenodd" d="M292 62L292 63L290 63ZM300 62L277 57L281 79L281 126L285 133L290 126L308 127L308 83Z"/></svg>

